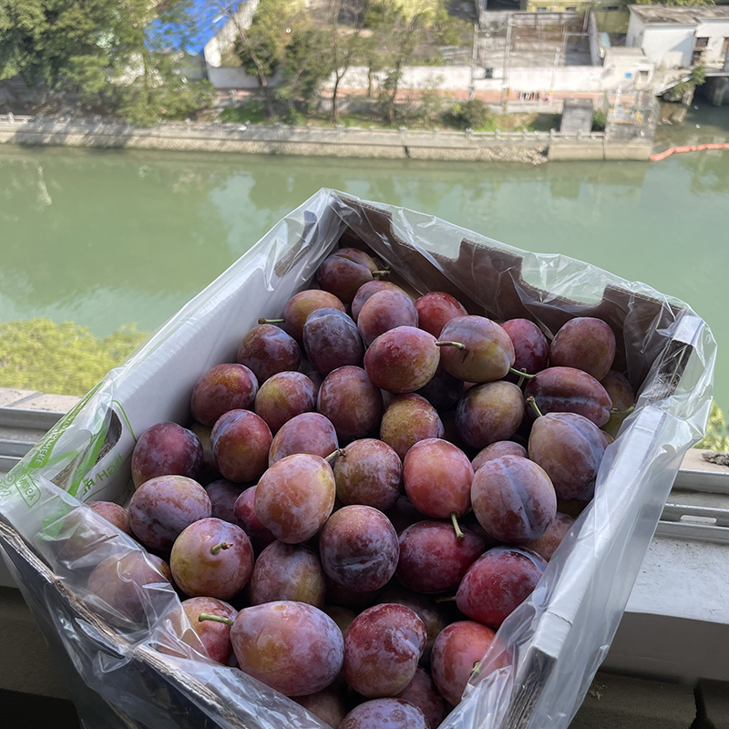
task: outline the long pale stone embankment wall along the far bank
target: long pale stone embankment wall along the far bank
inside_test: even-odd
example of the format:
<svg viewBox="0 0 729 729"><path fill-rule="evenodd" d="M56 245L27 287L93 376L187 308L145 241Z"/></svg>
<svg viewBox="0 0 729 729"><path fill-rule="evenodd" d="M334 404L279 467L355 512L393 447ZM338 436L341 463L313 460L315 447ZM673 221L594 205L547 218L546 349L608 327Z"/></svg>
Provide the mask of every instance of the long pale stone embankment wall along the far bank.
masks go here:
<svg viewBox="0 0 729 729"><path fill-rule="evenodd" d="M0 117L0 143L114 149L169 149L350 158L513 161L648 159L645 140L612 143L603 132L426 131L162 122L137 128L100 119Z"/></svg>

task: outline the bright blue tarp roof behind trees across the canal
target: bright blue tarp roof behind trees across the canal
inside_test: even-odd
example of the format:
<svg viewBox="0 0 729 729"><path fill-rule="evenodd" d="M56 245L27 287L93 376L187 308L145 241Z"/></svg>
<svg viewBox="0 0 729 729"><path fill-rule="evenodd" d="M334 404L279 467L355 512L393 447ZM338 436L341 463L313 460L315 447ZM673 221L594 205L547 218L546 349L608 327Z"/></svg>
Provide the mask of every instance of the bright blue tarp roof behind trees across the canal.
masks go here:
<svg viewBox="0 0 729 729"><path fill-rule="evenodd" d="M242 0L245 2L245 0ZM163 50L184 50L191 56L202 53L205 44L228 22L231 12L238 10L241 0L192 0L189 26L174 26L155 20L147 28L147 45Z"/></svg>

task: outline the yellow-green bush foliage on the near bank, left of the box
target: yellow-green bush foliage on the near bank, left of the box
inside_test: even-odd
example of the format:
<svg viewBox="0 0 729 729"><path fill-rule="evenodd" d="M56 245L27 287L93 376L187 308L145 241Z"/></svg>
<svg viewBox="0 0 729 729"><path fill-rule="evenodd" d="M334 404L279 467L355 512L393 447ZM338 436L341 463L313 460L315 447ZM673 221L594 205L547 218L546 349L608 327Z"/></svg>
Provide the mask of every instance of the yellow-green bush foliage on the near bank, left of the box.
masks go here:
<svg viewBox="0 0 729 729"><path fill-rule="evenodd" d="M146 338L133 324L108 337L50 319L0 324L0 387L84 395Z"/></svg>

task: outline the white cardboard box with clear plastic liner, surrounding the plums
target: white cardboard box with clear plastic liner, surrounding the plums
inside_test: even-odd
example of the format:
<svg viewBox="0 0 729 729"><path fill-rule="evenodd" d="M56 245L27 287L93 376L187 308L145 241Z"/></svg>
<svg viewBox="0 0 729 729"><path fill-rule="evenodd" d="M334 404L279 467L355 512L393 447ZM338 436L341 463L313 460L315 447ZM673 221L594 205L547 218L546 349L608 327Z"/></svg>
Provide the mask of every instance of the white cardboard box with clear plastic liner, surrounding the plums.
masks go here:
<svg viewBox="0 0 729 729"><path fill-rule="evenodd" d="M324 727L280 693L210 661L169 584L131 581L149 559L144 550L82 502L127 503L136 437L159 421L188 422L198 377L234 362L242 335L309 287L337 245L369 249L395 282L451 293L470 313L527 317L548 335L574 316L598 316L616 334L613 367L639 391L637 406L607 449L595 498L442 726L560 729L579 708L683 454L703 435L711 331L685 303L587 263L321 190L111 371L0 484L0 544L87 725ZM123 555L114 577L130 590L131 617L87 590L90 570Z"/></svg>

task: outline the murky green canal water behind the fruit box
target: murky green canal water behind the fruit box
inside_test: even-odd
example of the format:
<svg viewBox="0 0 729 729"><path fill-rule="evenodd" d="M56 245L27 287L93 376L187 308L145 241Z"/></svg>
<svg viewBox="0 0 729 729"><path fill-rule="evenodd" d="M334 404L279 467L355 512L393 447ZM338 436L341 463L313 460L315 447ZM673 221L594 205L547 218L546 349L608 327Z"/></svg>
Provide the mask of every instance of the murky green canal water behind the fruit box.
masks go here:
<svg viewBox="0 0 729 729"><path fill-rule="evenodd" d="M692 114L662 136L729 139L729 108ZM719 341L729 408L729 152L527 167L0 147L0 321L151 330L322 187L683 299Z"/></svg>

